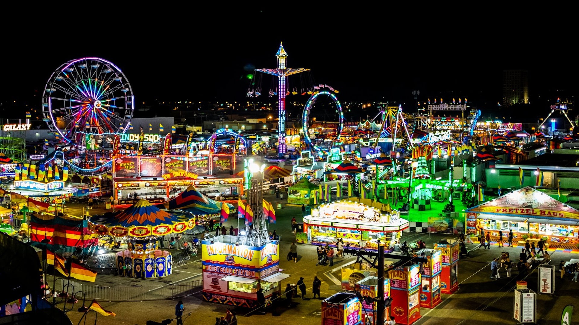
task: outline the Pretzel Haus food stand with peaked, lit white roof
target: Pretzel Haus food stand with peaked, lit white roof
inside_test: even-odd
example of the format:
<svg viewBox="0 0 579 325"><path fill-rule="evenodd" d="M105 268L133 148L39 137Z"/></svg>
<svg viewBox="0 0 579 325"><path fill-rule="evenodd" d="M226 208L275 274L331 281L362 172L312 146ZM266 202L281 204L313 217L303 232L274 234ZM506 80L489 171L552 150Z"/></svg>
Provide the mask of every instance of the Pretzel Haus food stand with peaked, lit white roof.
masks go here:
<svg viewBox="0 0 579 325"><path fill-rule="evenodd" d="M499 230L506 241L512 230L514 245L544 239L549 248L576 249L579 243L579 210L530 186L474 206L467 213L476 214L477 228L489 231L491 241L497 241Z"/></svg>

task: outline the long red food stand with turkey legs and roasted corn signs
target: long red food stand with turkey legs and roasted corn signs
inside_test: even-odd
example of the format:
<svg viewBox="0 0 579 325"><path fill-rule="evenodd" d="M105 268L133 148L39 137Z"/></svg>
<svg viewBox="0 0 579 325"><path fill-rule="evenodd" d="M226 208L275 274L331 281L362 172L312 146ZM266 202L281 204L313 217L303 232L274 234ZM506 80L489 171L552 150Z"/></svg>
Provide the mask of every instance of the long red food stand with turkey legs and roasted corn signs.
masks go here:
<svg viewBox="0 0 579 325"><path fill-rule="evenodd" d="M113 196L118 204L162 203L195 185L217 200L237 198L243 178L234 170L234 154L113 157Z"/></svg>

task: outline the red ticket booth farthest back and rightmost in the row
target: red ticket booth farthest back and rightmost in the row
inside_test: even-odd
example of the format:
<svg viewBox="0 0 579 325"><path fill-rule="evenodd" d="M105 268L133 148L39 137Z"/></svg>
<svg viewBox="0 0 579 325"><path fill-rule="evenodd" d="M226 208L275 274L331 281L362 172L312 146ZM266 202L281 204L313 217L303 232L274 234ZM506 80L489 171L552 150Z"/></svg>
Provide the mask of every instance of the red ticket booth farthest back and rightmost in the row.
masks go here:
<svg viewBox="0 0 579 325"><path fill-rule="evenodd" d="M443 239L434 243L434 249L441 251L442 270L440 273L440 288L442 293L454 293L459 289L459 241Z"/></svg>

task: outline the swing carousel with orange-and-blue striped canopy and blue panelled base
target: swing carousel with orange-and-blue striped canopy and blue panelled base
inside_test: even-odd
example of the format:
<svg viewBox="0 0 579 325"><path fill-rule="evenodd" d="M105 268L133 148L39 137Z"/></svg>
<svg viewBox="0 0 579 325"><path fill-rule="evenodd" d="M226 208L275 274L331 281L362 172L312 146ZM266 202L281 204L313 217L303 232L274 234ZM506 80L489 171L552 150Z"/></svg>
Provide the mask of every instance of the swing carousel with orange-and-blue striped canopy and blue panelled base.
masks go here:
<svg viewBox="0 0 579 325"><path fill-rule="evenodd" d="M142 279L167 276L173 271L173 257L168 250L159 249L157 239L195 226L193 215L173 214L142 199L124 211L93 216L89 223L96 234L127 242L127 249L116 253L118 272Z"/></svg>

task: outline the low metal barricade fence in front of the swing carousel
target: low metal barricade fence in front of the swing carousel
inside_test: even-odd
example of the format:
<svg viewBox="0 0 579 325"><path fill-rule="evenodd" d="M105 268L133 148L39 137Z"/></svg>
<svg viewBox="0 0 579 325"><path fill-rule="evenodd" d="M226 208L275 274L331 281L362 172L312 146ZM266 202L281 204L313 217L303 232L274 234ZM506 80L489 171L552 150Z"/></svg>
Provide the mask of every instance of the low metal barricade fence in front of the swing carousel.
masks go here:
<svg viewBox="0 0 579 325"><path fill-rule="evenodd" d="M53 278L47 276L47 283L52 285ZM86 301L104 300L104 301L144 301L144 300L161 300L167 298L179 298L190 296L201 292L203 280L199 279L183 283L170 284L159 282L159 285L152 286L98 286L87 285L72 280L56 278L54 288L57 293L66 292L69 296L76 294L78 300L83 298ZM83 294L84 293L84 297ZM57 297L57 300L60 299Z"/></svg>

